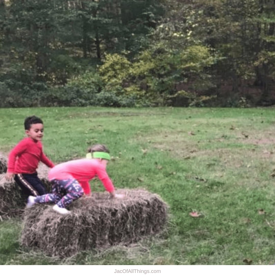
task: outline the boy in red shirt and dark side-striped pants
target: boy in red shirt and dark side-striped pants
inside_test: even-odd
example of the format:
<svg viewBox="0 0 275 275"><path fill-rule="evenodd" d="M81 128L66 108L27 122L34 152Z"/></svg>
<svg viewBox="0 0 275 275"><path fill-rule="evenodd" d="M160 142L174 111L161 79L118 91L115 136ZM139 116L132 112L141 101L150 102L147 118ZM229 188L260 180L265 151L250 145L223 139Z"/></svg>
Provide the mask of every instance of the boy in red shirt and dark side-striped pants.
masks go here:
<svg viewBox="0 0 275 275"><path fill-rule="evenodd" d="M43 153L43 121L36 116L30 116L24 122L27 138L21 140L10 152L6 179L15 182L27 196L39 196L47 193L45 186L37 177L39 161L53 168L54 164Z"/></svg>

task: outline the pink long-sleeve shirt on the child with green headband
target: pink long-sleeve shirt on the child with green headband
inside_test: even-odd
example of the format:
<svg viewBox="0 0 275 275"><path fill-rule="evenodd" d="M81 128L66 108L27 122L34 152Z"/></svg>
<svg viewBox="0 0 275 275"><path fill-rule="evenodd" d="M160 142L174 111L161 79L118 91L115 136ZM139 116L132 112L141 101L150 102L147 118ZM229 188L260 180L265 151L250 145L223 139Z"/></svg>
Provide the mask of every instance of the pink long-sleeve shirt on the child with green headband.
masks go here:
<svg viewBox="0 0 275 275"><path fill-rule="evenodd" d="M49 180L74 178L82 186L85 194L91 193L89 181L98 176L108 192L114 191L114 185L106 172L105 166L97 159L71 160L60 163L50 170L48 176Z"/></svg>

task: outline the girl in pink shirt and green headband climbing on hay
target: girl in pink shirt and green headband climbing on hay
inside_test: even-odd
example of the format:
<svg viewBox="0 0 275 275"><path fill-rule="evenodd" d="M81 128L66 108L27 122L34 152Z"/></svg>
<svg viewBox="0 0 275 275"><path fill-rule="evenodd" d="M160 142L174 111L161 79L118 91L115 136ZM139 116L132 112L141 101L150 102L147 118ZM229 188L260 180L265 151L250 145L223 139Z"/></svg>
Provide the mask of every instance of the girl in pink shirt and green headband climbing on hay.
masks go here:
<svg viewBox="0 0 275 275"><path fill-rule="evenodd" d="M101 144L94 145L89 149L86 159L72 160L60 163L49 172L49 180L53 183L52 193L42 196L29 196L27 207L36 203L54 202L53 210L60 214L68 214L65 207L83 196L90 195L89 181L98 176L111 197L122 198L123 195L115 193L110 180L106 165L110 160L109 150Z"/></svg>

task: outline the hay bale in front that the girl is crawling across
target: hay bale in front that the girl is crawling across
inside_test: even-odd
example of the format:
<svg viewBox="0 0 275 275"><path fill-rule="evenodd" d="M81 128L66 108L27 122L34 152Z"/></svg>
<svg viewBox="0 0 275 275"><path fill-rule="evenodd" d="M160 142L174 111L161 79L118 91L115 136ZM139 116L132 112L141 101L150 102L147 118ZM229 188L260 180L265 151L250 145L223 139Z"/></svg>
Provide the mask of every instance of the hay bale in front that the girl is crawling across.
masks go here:
<svg viewBox="0 0 275 275"><path fill-rule="evenodd" d="M24 212L21 244L38 247L46 255L68 257L95 247L133 243L160 232L167 221L167 205L145 190L121 189L123 199L94 193L70 205L62 216L51 205L36 204Z"/></svg>

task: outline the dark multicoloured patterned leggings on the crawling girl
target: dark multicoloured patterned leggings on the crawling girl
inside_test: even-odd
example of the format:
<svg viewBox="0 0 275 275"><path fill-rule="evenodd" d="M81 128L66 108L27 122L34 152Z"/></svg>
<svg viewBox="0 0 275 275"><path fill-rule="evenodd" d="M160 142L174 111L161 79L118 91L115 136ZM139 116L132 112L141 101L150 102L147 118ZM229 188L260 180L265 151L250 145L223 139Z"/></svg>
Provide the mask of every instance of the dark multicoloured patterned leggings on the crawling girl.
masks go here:
<svg viewBox="0 0 275 275"><path fill-rule="evenodd" d="M80 198L84 194L81 185L75 179L55 179L51 182L53 183L52 193L35 197L34 201L36 203L44 204L54 202L59 207L65 208L72 203L73 200Z"/></svg>

